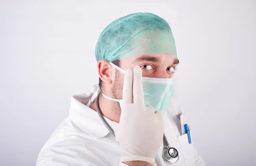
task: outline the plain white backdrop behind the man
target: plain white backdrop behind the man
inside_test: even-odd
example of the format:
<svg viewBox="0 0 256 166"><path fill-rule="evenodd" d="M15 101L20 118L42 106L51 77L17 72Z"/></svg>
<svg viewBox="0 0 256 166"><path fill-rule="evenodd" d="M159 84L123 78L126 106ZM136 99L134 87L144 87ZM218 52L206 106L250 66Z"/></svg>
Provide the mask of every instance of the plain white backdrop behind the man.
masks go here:
<svg viewBox="0 0 256 166"><path fill-rule="evenodd" d="M256 1L155 1L0 1L0 166L35 165L70 97L98 81L99 34L134 12L172 28L175 95L207 165L256 166Z"/></svg>

